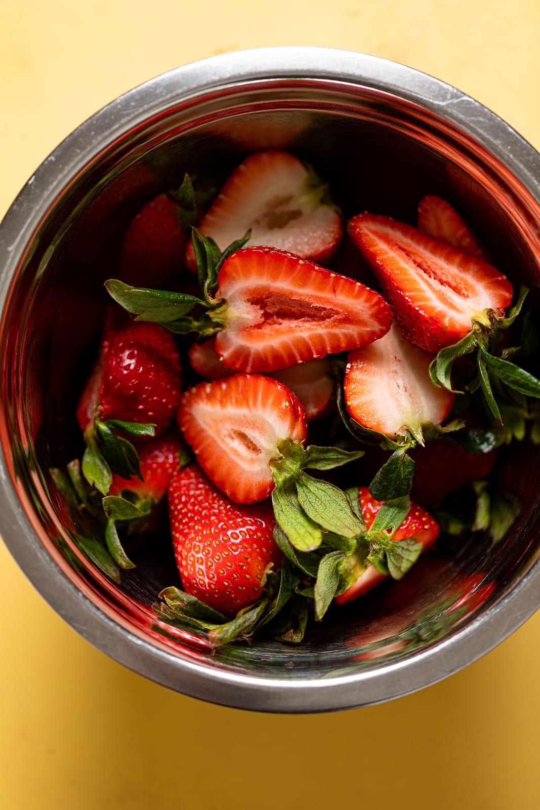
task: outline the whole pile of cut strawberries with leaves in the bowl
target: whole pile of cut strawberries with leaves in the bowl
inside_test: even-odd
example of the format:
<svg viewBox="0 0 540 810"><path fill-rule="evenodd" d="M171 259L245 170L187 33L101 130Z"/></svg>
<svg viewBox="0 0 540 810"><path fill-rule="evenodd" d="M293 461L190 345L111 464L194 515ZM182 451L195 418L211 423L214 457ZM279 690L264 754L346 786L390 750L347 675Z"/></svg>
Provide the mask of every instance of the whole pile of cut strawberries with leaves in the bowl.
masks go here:
<svg viewBox="0 0 540 810"><path fill-rule="evenodd" d="M310 612L402 578L440 531L411 488L432 507L484 480L508 401L540 396L504 333L525 291L511 307L449 203L424 197L416 227L362 212L344 233L284 151L249 156L206 213L187 176L151 200L121 276L105 286L131 317L109 309L66 485L120 569L168 494L182 590L155 613L212 646L300 642ZM182 367L200 382L183 390Z"/></svg>

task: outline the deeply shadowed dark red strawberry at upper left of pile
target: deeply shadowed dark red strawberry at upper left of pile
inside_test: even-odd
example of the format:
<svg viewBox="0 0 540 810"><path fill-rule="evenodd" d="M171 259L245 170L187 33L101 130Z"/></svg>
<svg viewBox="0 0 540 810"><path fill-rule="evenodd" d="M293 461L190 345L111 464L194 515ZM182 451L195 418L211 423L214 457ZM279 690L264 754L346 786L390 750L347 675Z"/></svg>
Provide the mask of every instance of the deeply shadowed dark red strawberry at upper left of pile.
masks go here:
<svg viewBox="0 0 540 810"><path fill-rule="evenodd" d="M125 233L120 278L134 287L165 287L184 267L188 237L181 208L168 194L159 194L139 211Z"/></svg>

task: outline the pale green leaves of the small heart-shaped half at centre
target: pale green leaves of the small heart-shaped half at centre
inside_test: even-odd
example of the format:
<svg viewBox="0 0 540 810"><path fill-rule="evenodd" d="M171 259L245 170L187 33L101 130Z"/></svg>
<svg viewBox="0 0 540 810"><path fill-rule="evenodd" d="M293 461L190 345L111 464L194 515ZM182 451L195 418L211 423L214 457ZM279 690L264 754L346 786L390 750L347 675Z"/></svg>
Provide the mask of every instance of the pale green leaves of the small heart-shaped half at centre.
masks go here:
<svg viewBox="0 0 540 810"><path fill-rule="evenodd" d="M364 455L335 447L308 447L283 441L279 457L272 459L272 504L278 526L291 545L302 552L318 548L325 532L355 537L362 523L347 496L328 481L307 475L304 469L330 470Z"/></svg>

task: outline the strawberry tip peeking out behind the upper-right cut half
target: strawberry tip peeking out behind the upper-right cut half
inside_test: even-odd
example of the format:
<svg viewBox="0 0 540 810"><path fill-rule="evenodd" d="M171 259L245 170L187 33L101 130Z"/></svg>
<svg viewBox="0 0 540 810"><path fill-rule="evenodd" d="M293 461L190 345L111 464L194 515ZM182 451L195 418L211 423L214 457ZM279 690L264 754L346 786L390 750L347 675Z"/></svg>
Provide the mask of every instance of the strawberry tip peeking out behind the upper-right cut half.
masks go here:
<svg viewBox="0 0 540 810"><path fill-rule="evenodd" d="M474 232L450 203L432 194L423 197L418 207L417 228L428 237L452 245L463 253L489 261L486 250Z"/></svg>

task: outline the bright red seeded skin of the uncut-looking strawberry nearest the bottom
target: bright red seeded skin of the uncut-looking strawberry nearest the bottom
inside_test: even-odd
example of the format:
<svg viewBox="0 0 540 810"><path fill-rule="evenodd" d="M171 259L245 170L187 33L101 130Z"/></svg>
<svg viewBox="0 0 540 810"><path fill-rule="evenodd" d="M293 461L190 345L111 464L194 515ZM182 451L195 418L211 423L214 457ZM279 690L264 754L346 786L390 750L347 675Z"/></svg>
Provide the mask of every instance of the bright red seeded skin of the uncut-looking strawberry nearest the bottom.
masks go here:
<svg viewBox="0 0 540 810"><path fill-rule="evenodd" d="M224 616L257 601L266 566L273 563L275 570L283 562L270 502L234 504L192 464L172 475L168 509L186 593Z"/></svg>

